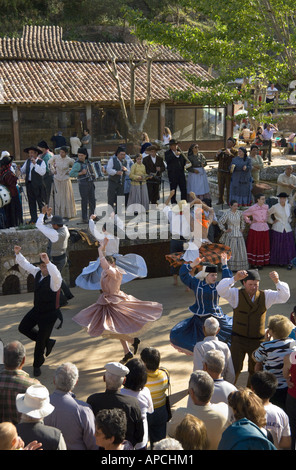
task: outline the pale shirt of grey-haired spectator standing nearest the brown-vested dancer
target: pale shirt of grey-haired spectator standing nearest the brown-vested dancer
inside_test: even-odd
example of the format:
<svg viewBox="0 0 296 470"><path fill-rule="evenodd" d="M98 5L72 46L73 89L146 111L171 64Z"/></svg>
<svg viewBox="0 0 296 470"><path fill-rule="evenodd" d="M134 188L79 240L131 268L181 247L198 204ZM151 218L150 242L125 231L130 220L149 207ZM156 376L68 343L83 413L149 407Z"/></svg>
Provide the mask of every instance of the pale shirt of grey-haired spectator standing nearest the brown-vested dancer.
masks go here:
<svg viewBox="0 0 296 470"><path fill-rule="evenodd" d="M217 336L206 336L202 341L198 341L193 349L193 370L202 370L204 357L208 351L213 349L222 351L225 357L225 367L223 378L230 383L235 381L235 372L230 349L226 343L220 341Z"/></svg>

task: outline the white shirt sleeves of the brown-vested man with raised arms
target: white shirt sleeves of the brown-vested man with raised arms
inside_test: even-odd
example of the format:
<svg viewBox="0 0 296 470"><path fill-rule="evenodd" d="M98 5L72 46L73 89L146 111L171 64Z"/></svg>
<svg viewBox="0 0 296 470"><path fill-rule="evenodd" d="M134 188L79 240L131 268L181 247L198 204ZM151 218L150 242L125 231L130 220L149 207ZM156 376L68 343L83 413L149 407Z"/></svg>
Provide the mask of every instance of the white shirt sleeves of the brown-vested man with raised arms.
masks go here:
<svg viewBox="0 0 296 470"><path fill-rule="evenodd" d="M234 283L233 277L227 277L222 279L216 287L218 295L226 299L232 308L238 306L239 294L239 289L233 287ZM290 298L290 287L286 282L279 281L276 284L276 289L277 290L267 289L263 291L267 310L274 304L285 304Z"/></svg>

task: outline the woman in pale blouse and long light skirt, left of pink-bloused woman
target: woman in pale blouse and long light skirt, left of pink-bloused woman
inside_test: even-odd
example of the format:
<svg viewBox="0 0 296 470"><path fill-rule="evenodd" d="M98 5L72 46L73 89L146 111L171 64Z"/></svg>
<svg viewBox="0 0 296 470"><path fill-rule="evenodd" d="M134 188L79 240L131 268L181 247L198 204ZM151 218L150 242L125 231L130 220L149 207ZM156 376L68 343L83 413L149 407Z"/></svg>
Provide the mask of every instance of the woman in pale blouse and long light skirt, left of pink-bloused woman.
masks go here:
<svg viewBox="0 0 296 470"><path fill-rule="evenodd" d="M223 234L221 243L231 249L231 258L228 262L232 271L249 269L249 262L246 250L246 243L243 236L245 219L243 213L238 210L237 201L230 201L230 209L226 210L218 221L218 225Z"/></svg>

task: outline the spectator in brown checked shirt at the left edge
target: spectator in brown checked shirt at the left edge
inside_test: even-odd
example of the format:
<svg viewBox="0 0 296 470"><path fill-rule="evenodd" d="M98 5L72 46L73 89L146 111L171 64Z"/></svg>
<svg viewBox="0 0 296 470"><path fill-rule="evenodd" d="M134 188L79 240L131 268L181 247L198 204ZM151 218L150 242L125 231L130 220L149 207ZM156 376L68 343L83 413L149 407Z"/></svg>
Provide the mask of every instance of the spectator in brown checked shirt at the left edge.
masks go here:
<svg viewBox="0 0 296 470"><path fill-rule="evenodd" d="M18 393L24 393L33 384L39 384L23 370L26 360L25 347L19 341L12 341L4 346L4 371L0 373L0 422L11 421L17 424L20 414L16 409L15 399Z"/></svg>

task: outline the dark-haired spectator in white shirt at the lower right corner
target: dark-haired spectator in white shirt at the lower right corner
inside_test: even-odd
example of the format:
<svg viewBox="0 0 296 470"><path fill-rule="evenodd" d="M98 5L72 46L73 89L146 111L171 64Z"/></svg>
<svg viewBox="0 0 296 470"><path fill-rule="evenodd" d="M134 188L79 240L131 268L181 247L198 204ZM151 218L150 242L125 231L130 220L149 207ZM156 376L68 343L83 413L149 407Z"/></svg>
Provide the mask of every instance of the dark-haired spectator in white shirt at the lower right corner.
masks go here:
<svg viewBox="0 0 296 470"><path fill-rule="evenodd" d="M271 433L277 449L291 449L291 430L288 415L279 406L270 403L278 385L274 374L255 372L251 377L251 388L261 398L266 411L266 429Z"/></svg>

